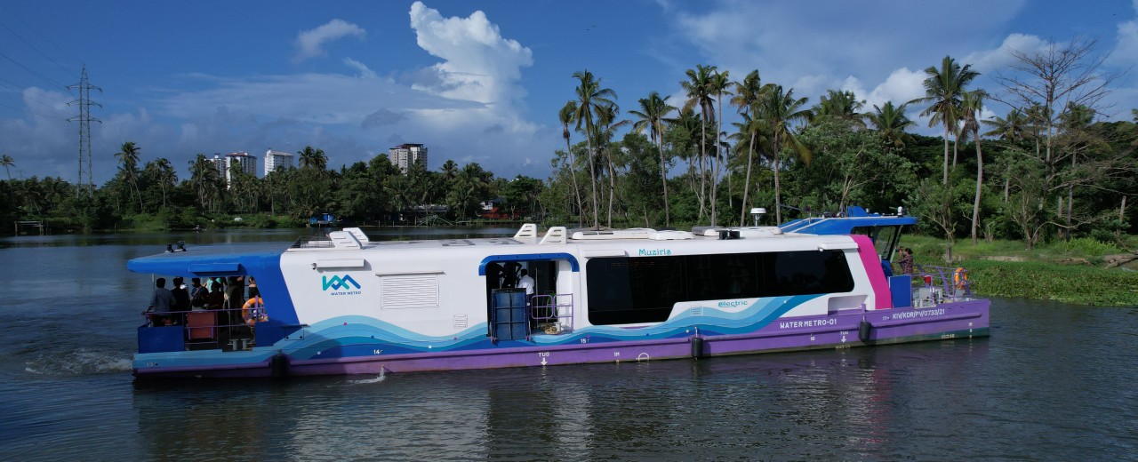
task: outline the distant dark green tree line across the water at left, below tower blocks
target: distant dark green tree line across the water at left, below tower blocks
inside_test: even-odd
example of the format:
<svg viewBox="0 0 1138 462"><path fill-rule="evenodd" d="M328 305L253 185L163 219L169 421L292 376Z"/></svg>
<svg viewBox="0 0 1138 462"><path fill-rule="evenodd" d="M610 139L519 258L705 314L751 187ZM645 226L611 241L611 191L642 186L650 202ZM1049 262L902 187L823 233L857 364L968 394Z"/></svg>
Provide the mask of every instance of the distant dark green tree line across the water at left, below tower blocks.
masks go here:
<svg viewBox="0 0 1138 462"><path fill-rule="evenodd" d="M477 163L459 166L446 160L438 171L413 164L404 173L387 155L339 170L328 168L322 149L297 152L298 166L257 178L239 168L226 179L214 162L198 154L179 179L174 165L158 157L143 163L142 147L124 142L115 155L118 170L102 185L83 190L63 179L31 178L2 181L0 216L48 221L53 229L97 231L122 228L192 229L233 225L299 225L310 216L330 213L357 223L412 223L419 205L444 205L448 221L477 217L481 203L500 199L512 213L539 212L542 181L518 175L494 176ZM10 170L11 156L0 157Z"/></svg>

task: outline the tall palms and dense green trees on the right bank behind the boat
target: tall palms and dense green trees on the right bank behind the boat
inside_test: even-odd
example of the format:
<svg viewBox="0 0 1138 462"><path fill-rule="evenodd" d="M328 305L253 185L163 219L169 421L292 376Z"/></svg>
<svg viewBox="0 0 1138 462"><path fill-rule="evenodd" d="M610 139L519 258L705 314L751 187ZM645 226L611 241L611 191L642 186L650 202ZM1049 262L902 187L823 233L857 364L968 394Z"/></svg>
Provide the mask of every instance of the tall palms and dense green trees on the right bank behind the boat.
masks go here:
<svg viewBox="0 0 1138 462"><path fill-rule="evenodd" d="M1105 122L1121 74L1104 69L1095 47L1014 51L995 89L973 88L980 74L946 56L924 69L923 97L872 109L850 91L810 106L758 69L736 81L698 65L678 82L686 99L653 91L622 118L617 92L577 72L542 204L554 221L594 228L743 225L751 207L773 207L782 222L861 205L904 207L950 241L1116 240L1135 231L1138 109L1133 122ZM982 117L996 107L1006 115ZM910 133L910 110L943 135ZM739 122L726 126L725 112Z"/></svg>

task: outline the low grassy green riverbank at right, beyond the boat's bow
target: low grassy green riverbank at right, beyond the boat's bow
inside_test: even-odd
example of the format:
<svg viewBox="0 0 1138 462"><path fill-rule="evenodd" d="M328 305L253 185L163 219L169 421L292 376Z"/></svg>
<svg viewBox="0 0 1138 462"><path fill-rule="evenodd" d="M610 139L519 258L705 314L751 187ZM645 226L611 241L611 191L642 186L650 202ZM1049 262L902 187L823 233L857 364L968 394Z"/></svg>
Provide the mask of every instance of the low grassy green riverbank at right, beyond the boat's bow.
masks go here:
<svg viewBox="0 0 1138 462"><path fill-rule="evenodd" d="M1130 237L1125 244L1136 248ZM982 295L1053 299L1098 306L1138 306L1138 263L1106 267L1112 255L1127 250L1092 239L1073 239L1028 250L1020 241L957 241L953 263L945 263L948 242L907 236L916 262L933 266L963 266L972 288Z"/></svg>

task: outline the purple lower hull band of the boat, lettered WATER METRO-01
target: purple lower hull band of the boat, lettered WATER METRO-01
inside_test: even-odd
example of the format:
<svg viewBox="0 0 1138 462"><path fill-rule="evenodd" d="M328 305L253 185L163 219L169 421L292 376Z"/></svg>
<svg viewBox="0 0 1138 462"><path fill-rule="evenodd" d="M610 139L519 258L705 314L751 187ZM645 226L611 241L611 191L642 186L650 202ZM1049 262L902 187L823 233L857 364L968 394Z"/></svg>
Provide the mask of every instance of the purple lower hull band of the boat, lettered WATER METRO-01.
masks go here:
<svg viewBox="0 0 1138 462"><path fill-rule="evenodd" d="M464 369L636 362L685 357L850 348L910 341L987 337L989 302L968 299L926 308L850 310L831 315L776 319L748 333L715 335L693 325L688 337L652 340L510 346L439 353L378 354L302 360L283 353L229 365L135 369L138 377L281 377L376 374ZM520 346L519 346L520 345ZM262 355L263 356L263 355Z"/></svg>

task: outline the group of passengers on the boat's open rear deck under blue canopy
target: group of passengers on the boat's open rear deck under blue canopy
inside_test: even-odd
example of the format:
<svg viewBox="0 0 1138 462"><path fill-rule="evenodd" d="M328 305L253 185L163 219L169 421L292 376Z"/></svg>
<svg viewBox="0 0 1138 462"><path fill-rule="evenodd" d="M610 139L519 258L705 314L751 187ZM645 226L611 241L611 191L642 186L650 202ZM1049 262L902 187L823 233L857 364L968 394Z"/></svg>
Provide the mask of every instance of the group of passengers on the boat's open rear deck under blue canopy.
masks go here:
<svg viewBox="0 0 1138 462"><path fill-rule="evenodd" d="M224 311L218 319L222 325L251 324L264 317L264 303L253 277L248 278L248 284L240 275L206 278L205 283L201 278L191 278L189 287L184 281L182 277L175 277L171 289L166 288L166 278L154 281L154 295L147 308L151 325L184 324L185 313L191 310ZM249 310L249 306L255 310Z"/></svg>

